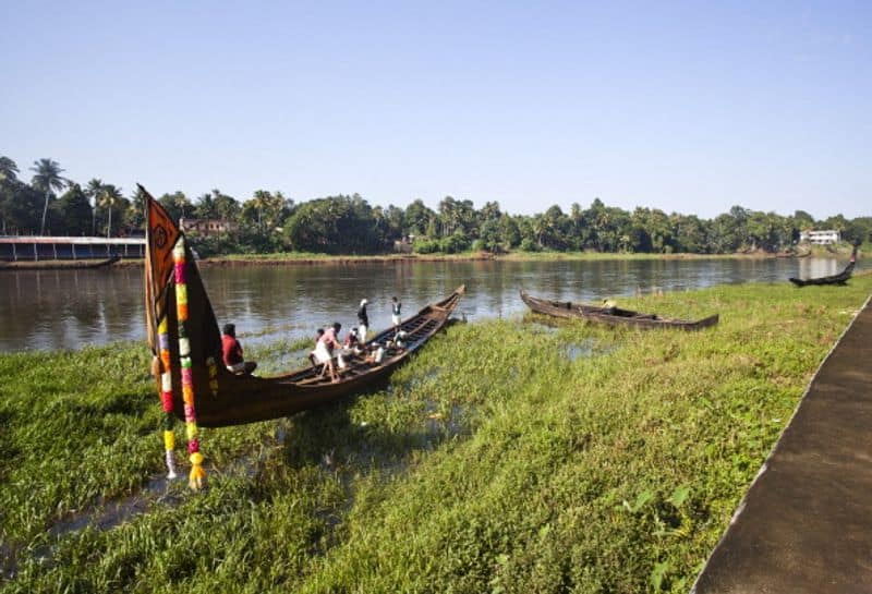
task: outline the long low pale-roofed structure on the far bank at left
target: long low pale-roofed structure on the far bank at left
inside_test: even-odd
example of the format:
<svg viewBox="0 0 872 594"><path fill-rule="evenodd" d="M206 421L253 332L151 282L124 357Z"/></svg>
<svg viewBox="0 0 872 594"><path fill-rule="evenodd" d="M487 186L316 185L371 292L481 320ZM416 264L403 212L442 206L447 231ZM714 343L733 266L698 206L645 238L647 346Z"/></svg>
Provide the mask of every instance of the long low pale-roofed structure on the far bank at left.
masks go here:
<svg viewBox="0 0 872 594"><path fill-rule="evenodd" d="M52 238L0 235L0 260L145 257L144 238Z"/></svg>

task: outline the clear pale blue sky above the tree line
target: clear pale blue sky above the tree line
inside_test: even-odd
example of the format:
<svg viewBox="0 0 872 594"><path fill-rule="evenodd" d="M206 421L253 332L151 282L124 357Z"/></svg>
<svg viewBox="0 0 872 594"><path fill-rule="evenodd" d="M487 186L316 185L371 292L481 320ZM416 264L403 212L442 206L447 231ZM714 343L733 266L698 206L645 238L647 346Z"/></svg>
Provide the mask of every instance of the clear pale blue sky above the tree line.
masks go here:
<svg viewBox="0 0 872 594"><path fill-rule="evenodd" d="M0 156L155 195L872 215L872 2L12 2Z"/></svg>

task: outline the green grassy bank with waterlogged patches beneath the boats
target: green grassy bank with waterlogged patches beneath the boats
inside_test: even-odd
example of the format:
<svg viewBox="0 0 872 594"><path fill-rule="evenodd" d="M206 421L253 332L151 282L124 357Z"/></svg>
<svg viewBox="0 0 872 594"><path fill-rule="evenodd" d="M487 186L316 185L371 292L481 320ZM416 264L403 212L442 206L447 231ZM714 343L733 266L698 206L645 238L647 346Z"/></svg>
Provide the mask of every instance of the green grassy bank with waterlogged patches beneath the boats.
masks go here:
<svg viewBox="0 0 872 594"><path fill-rule="evenodd" d="M0 590L685 593L870 292L621 302L719 312L699 334L457 324L377 392L204 431L207 492L104 529L58 525L162 472L145 348L0 355Z"/></svg>

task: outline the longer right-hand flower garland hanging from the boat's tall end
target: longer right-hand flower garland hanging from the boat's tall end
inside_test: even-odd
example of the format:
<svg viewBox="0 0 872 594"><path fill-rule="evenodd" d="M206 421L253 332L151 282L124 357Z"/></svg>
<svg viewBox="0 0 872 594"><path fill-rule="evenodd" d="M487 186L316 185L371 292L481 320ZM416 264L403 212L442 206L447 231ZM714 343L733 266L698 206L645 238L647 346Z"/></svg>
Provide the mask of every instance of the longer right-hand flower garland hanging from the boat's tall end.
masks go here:
<svg viewBox="0 0 872 594"><path fill-rule="evenodd" d="M191 369L191 342L187 339L187 284L185 283L184 237L179 238L172 248L175 274L175 317L179 323L179 360L182 367L182 400L184 401L184 424L187 435L187 453L191 460L189 486L197 490L203 487L206 471L203 470L203 454L197 439L197 413L194 408L194 378ZM166 435L166 434L165 434Z"/></svg>

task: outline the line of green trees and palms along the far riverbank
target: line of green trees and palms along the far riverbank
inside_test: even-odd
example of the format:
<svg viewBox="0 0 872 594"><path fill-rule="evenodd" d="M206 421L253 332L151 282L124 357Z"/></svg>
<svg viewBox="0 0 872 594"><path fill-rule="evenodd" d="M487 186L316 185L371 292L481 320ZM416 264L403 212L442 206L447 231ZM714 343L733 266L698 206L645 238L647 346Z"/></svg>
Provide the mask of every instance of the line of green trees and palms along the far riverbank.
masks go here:
<svg viewBox="0 0 872 594"><path fill-rule="evenodd" d="M8 157L0 157L0 233L53 235L129 235L144 222L142 196L92 179L84 186L62 177L52 159L29 168L31 182ZM554 205L535 215L510 215L497 202L476 209L469 199L446 196L436 209L415 199L405 208L372 206L358 194L328 196L300 204L281 192L257 190L240 202L213 190L195 199L182 192L158 201L177 220L222 219L231 232L190 233L203 256L230 253L316 252L379 254L396 242L416 253L482 250L596 251L626 253L785 252L795 248L800 231L836 229L850 242L872 240L872 217L835 215L815 220L803 210L790 216L734 206L712 219L656 208L632 211L595 198L588 208L572 204L568 213Z"/></svg>

